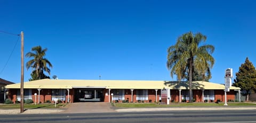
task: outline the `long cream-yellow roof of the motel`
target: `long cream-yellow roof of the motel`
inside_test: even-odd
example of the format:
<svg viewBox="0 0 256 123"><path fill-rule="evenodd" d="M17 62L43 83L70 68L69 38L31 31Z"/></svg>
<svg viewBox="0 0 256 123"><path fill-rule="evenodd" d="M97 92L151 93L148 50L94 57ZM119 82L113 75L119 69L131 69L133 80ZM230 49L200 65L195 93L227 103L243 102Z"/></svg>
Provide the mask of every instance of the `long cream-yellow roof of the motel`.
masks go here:
<svg viewBox="0 0 256 123"><path fill-rule="evenodd" d="M41 79L27 81L23 88L71 89L71 88L106 88L106 89L188 89L188 81L149 81L149 80L62 80ZM222 84L206 81L193 81L193 89L225 89ZM20 83L6 85L5 88L20 88ZM240 89L230 87L230 89Z"/></svg>

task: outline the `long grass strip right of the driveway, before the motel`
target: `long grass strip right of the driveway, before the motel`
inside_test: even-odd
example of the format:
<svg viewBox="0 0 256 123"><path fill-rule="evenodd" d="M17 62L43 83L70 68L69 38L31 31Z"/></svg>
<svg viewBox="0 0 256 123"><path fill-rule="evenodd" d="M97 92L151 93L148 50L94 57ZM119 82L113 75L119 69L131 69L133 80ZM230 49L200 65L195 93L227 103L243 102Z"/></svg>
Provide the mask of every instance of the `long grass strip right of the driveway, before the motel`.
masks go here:
<svg viewBox="0 0 256 123"><path fill-rule="evenodd" d="M253 103L227 103L228 106L256 106ZM163 107L207 107L207 106L224 106L224 103L170 103L170 105L160 103L113 103L117 108L163 108Z"/></svg>

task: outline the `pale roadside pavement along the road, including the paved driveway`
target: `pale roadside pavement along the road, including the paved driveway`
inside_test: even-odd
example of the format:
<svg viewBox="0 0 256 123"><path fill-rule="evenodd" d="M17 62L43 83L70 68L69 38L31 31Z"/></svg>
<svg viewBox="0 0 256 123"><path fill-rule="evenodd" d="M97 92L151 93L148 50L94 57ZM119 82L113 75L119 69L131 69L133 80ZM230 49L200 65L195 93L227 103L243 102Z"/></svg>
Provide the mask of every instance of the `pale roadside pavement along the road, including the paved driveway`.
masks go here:
<svg viewBox="0 0 256 123"><path fill-rule="evenodd" d="M109 103L72 103L66 108L28 109L20 113L20 109L0 109L0 114L50 114L50 113L104 113L104 112L143 112L143 111L207 111L207 110L256 110L256 106L211 106L211 107L171 107L171 108L125 108L116 109Z"/></svg>

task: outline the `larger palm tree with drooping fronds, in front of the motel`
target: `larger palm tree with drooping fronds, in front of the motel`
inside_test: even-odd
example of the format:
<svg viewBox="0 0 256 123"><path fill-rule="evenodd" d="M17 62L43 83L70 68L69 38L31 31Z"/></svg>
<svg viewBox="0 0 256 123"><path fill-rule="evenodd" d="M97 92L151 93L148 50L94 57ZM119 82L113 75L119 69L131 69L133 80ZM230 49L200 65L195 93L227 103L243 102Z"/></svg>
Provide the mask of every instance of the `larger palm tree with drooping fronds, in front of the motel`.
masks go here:
<svg viewBox="0 0 256 123"><path fill-rule="evenodd" d="M198 75L211 77L210 68L213 67L214 52L213 45L202 44L206 41L206 36L201 33L193 35L187 32L177 39L177 43L167 50L167 68L171 71L171 77L177 75L180 81L189 76L189 102L192 102L192 73L196 71Z"/></svg>

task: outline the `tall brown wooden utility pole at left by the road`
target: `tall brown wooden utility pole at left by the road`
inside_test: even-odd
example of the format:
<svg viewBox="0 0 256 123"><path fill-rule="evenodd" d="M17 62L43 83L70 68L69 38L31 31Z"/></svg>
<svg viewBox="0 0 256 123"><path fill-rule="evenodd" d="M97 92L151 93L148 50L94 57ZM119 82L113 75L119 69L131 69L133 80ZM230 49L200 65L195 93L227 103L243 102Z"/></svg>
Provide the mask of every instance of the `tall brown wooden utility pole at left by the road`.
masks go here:
<svg viewBox="0 0 256 123"><path fill-rule="evenodd" d="M23 81L24 81L24 34L23 31L20 33L21 36L21 79L20 79L20 113L24 112L24 99L23 99Z"/></svg>

